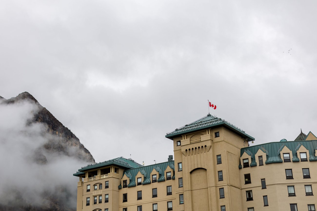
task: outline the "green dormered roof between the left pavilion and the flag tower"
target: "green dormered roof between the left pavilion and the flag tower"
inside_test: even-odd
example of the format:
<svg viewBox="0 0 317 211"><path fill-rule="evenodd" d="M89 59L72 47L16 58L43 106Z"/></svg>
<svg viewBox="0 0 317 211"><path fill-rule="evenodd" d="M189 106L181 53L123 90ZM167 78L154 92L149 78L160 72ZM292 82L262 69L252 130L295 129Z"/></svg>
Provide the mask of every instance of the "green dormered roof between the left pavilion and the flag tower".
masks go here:
<svg viewBox="0 0 317 211"><path fill-rule="evenodd" d="M147 165L139 168L125 170L123 172L123 176L126 175L127 177L129 177L130 182L128 184L128 187L133 187L136 186L135 177L137 176L138 172L141 172L141 174L144 175L144 181L142 182L142 185L149 184L151 183L151 172L153 171L153 169L155 169L155 171L159 172L159 178L157 178L157 181L161 182L165 181L164 171L166 170L167 166L170 166L170 168L173 171L175 171L174 161L167 161L164 163ZM172 179L175 179L175 175L172 177ZM119 185L119 189L120 188L121 185Z"/></svg>

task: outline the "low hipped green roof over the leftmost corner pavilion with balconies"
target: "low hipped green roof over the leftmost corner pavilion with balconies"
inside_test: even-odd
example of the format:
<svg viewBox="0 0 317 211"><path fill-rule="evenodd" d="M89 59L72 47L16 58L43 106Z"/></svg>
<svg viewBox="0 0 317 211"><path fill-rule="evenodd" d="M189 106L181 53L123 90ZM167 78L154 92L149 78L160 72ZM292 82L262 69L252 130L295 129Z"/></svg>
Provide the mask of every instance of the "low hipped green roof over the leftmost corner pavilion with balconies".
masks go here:
<svg viewBox="0 0 317 211"><path fill-rule="evenodd" d="M102 168L108 165L116 165L116 166L121 166L123 168L128 168L128 169L132 169L132 168L137 168L142 166L141 164L138 164L137 162L135 162L132 159L127 159L127 158L123 158L123 157L119 157L119 158L114 158L112 160L107 160L104 162L100 162L100 163L96 163L96 164L90 164L84 167L81 167L81 169L79 169L77 171L77 173L73 174L74 176L81 176L82 172L85 171L89 171L89 170L94 170L94 169L98 169L98 168Z"/></svg>

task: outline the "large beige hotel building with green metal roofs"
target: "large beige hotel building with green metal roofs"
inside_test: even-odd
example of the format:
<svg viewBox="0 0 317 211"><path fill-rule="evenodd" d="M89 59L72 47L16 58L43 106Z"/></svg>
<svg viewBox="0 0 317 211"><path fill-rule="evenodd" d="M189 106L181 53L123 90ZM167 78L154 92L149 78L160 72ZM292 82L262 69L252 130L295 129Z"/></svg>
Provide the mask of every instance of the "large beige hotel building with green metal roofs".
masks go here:
<svg viewBox="0 0 317 211"><path fill-rule="evenodd" d="M79 169L77 211L315 211L317 138L254 138L207 115L165 136L173 156L143 166L115 158Z"/></svg>

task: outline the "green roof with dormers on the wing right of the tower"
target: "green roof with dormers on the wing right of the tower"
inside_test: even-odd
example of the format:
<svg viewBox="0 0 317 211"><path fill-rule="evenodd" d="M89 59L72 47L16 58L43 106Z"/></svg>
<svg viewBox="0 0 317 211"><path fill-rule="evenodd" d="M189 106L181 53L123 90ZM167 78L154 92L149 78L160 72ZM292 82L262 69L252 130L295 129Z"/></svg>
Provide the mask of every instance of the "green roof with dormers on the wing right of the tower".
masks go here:
<svg viewBox="0 0 317 211"><path fill-rule="evenodd" d="M280 142L270 142L266 144L260 144L256 146L249 146L241 149L240 157L246 152L251 156L250 166L256 166L255 154L258 150L262 150L266 153L266 164L269 163L282 163L283 160L281 158L281 150L284 147L287 147L292 151L293 154L293 162L298 162L300 159L297 157L297 150L304 146L309 151L309 161L317 161L317 154L315 154L315 150L317 150L317 140L312 141L280 141ZM263 159L264 160L264 159ZM239 165L239 168L242 168L242 165Z"/></svg>

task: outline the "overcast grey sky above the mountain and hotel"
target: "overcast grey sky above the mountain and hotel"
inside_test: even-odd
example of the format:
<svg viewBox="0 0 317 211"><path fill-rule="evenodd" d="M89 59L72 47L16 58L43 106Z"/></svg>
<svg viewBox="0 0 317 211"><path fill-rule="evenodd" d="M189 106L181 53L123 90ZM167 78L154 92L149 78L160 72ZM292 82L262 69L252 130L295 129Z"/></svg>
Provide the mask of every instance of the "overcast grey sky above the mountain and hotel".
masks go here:
<svg viewBox="0 0 317 211"><path fill-rule="evenodd" d="M207 100L251 146L292 141L317 133L316 7L2 0L0 96L28 91L97 162L167 161L166 133L207 115Z"/></svg>

